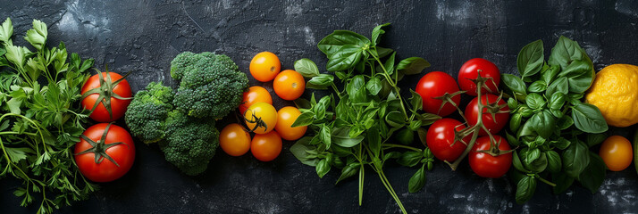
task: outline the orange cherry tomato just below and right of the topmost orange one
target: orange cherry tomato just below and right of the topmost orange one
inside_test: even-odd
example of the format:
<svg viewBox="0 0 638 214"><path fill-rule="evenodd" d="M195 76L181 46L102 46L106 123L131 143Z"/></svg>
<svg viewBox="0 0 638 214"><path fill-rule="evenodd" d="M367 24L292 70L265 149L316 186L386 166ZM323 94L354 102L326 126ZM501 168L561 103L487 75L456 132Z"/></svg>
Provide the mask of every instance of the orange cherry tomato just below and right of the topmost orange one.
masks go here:
<svg viewBox="0 0 638 214"><path fill-rule="evenodd" d="M283 70L274 78L274 93L284 100L297 100L299 96L304 94L306 89L306 81L295 70Z"/></svg>

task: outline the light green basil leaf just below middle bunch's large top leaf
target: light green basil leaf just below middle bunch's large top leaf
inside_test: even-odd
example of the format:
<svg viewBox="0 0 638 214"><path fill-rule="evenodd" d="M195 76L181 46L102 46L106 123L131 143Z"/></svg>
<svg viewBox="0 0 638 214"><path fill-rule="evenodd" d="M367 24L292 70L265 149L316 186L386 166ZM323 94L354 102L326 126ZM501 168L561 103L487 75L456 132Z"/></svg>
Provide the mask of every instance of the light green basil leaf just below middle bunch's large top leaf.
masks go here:
<svg viewBox="0 0 638 214"><path fill-rule="evenodd" d="M341 48L329 56L325 65L328 71L348 70L354 68L364 56L364 49L358 45L343 45Z"/></svg>

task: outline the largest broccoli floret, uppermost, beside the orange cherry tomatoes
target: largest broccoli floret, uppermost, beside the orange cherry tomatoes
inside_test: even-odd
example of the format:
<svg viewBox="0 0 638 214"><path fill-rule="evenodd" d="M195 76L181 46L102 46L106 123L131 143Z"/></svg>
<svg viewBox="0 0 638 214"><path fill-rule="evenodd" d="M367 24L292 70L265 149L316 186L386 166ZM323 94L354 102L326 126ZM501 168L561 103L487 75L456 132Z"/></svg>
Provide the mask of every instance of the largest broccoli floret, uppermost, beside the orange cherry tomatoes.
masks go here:
<svg viewBox="0 0 638 214"><path fill-rule="evenodd" d="M197 118L223 118L248 87L246 74L224 54L180 53L171 62L171 76L181 80L175 108Z"/></svg>

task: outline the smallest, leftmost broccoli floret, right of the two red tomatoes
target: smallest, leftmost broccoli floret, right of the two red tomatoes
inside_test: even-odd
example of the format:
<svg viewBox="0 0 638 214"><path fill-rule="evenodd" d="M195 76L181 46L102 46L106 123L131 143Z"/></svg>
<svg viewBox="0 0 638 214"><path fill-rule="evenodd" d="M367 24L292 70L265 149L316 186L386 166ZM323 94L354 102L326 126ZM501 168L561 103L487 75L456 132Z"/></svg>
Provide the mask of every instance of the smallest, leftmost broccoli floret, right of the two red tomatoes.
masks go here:
<svg viewBox="0 0 638 214"><path fill-rule="evenodd" d="M141 90L125 113L124 119L130 134L139 137L145 144L164 138L165 120L172 111L172 88L162 83L151 82L146 90Z"/></svg>

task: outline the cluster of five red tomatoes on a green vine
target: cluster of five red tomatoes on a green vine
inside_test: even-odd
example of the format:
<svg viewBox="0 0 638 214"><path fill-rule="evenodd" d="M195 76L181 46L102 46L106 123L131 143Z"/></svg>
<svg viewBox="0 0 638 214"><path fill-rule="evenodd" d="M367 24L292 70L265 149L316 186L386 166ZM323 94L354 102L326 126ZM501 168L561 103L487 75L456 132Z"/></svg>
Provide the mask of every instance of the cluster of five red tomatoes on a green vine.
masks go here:
<svg viewBox="0 0 638 214"><path fill-rule="evenodd" d="M480 90L481 106L498 106L493 110L496 111L493 117L493 111L488 111L486 107L483 107L483 112L479 113L479 96L477 84L474 82L479 75L487 78L481 83L483 85ZM462 112L461 116L466 120L465 122L443 118L435 121L428 129L426 144L437 159L451 162L463 158L460 156L466 150L467 144L473 140L474 129L480 128L474 147L468 154L470 167L481 177L502 177L508 172L512 164L512 153L504 151L509 151L511 148L504 137L495 135L508 123L509 119L508 105L499 97L499 82L499 68L494 63L481 58L474 58L463 64L458 72L458 85L454 78L441 71L430 72L419 80L415 91L423 99L424 111L441 117L449 116L454 111L459 111L461 114L458 106L461 100L460 95L464 91L466 95L474 96L474 99L466 105L465 112ZM445 97L446 94L449 96ZM477 125L479 117L481 117L481 124ZM488 153L490 151L502 153L493 156Z"/></svg>

